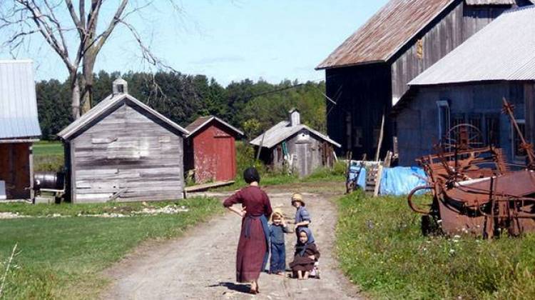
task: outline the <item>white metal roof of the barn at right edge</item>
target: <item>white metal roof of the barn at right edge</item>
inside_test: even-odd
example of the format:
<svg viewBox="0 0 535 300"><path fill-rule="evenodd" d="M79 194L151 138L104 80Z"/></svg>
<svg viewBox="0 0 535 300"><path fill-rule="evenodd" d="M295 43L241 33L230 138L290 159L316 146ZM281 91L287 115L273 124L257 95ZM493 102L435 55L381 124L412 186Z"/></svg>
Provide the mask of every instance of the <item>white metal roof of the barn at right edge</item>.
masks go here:
<svg viewBox="0 0 535 300"><path fill-rule="evenodd" d="M409 82L535 80L535 6L506 11Z"/></svg>

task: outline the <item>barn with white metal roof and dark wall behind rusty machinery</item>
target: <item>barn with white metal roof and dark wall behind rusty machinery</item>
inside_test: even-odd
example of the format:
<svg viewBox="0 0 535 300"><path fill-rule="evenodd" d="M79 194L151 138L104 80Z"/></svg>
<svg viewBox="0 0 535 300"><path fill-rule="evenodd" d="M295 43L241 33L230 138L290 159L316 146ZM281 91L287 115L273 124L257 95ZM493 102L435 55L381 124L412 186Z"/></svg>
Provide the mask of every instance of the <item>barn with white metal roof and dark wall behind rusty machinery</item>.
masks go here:
<svg viewBox="0 0 535 300"><path fill-rule="evenodd" d="M474 141L504 149L525 162L519 137L501 114L502 98L516 106L526 139L535 141L535 6L508 11L412 80L411 92L394 106L399 159L432 152L457 124L471 124ZM479 136L479 137L477 137Z"/></svg>

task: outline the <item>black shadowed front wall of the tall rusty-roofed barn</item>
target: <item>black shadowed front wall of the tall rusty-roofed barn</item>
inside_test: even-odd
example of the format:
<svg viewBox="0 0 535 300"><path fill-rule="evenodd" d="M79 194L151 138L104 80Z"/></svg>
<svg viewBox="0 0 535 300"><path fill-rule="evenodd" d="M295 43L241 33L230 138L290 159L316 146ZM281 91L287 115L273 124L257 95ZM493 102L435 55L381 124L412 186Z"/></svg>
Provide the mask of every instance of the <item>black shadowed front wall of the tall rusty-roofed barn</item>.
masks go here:
<svg viewBox="0 0 535 300"><path fill-rule="evenodd" d="M326 70L327 133L342 144L339 155L352 151L354 158L367 154L373 157L377 149L382 115L386 114L382 156L392 146L392 91L390 67L370 64Z"/></svg>

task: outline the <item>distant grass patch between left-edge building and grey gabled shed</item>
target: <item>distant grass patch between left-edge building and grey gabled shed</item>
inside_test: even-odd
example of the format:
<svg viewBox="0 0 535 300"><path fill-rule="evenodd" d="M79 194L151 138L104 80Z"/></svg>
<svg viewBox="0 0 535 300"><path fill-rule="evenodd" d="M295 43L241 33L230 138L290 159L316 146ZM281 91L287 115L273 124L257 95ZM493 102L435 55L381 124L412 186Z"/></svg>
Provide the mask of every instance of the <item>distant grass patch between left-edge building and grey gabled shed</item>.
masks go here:
<svg viewBox="0 0 535 300"><path fill-rule="evenodd" d="M34 144L35 171L60 171L63 164L63 144L60 141L39 141Z"/></svg>

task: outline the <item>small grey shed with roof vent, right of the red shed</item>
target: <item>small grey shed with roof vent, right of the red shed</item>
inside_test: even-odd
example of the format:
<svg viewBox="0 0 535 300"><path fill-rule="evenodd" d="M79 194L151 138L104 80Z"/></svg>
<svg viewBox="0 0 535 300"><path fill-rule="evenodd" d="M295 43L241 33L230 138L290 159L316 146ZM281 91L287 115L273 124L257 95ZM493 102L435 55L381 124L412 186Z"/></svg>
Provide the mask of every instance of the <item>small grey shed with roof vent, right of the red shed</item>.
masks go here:
<svg viewBox="0 0 535 300"><path fill-rule="evenodd" d="M299 176L307 176L320 166L332 167L336 141L308 126L301 124L297 109L290 111L289 121L265 131L250 144L260 150L260 159L274 169L288 166Z"/></svg>

